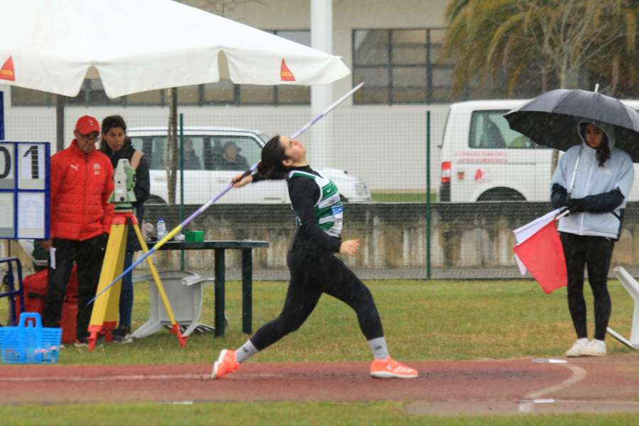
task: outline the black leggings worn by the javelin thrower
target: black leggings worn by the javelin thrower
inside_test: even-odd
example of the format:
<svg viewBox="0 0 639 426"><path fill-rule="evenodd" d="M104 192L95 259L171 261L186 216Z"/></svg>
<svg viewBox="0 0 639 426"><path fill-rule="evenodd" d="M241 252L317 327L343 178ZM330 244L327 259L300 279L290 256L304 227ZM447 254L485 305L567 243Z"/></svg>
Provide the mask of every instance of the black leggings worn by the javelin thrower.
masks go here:
<svg viewBox="0 0 639 426"><path fill-rule="evenodd" d="M251 337L253 346L263 350L305 322L322 293L332 295L353 308L366 340L383 337L381 320L371 291L344 262L326 251L290 251L287 263L290 283L280 316L264 324Z"/></svg>

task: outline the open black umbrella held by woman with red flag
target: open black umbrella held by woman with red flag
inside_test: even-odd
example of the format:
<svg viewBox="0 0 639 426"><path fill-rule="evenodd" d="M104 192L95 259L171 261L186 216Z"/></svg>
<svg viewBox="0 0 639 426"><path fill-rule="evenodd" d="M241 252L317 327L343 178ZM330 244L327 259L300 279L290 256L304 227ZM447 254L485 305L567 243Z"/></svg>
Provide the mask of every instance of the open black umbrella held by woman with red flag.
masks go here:
<svg viewBox="0 0 639 426"><path fill-rule="evenodd" d="M566 151L581 143L579 121L595 120L615 126L615 146L639 163L639 112L619 99L586 90L556 89L540 94L504 115L510 129L532 141Z"/></svg>

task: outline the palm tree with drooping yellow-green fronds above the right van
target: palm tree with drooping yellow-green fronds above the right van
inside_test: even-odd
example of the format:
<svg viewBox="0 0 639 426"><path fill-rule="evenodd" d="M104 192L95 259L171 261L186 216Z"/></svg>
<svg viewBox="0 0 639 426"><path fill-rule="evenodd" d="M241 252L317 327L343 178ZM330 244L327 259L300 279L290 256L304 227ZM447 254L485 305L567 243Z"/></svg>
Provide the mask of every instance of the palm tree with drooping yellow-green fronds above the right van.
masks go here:
<svg viewBox="0 0 639 426"><path fill-rule="evenodd" d="M542 91L549 89L551 73L559 87L575 87L579 70L620 37L611 11L623 9L623 3L636 1L451 0L442 53L458 59L455 92L473 77L486 82L506 72L511 93L522 72L539 62Z"/></svg>

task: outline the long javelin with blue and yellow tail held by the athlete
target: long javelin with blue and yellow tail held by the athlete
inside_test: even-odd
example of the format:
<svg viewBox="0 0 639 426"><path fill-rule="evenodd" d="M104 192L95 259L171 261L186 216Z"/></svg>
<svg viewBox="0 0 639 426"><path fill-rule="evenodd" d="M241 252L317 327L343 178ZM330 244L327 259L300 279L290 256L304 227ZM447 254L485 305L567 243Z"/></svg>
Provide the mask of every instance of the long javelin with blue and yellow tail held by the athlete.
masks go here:
<svg viewBox="0 0 639 426"><path fill-rule="evenodd" d="M324 111L322 111L320 114L318 114L315 118L313 118L307 124L302 126L302 128L300 130L298 130L295 133L293 133L290 136L290 138L291 139L295 139L295 138L297 138L297 136L300 136L302 133L307 131L310 128L310 126L312 126L313 124L317 123L317 121L320 121L320 119L324 118L324 116L326 116L330 111L335 109L339 104L344 102L344 100L346 100L346 98L351 96L351 94L354 94L355 92L357 92L357 90L359 90L359 88L362 87L362 86L364 86L364 82L361 82L361 83L357 84L355 87L353 87L351 90L349 90L348 93L344 94L343 97L337 99L337 101L335 101L331 105L329 105L329 107L324 109ZM245 176L248 176L251 173L253 173L256 170L258 163L255 163L255 164L251 165L251 168L249 170L246 170L246 172L242 173L242 176L241 176L241 178L239 180L241 180ZM111 284L107 285L107 287L103 288L100 293L98 293L97 295L95 295L95 297L93 297L91 300L89 300L89 302L87 302L87 306L91 305L92 302L97 299L97 297L99 297L100 295L104 294L105 291L107 291L109 288L111 288L111 285L114 285L119 280L121 280L122 277L124 277L124 275L126 275L129 272L131 272L131 270L133 270L133 268L135 268L140 263L142 263L146 258L148 258L148 256L151 256L153 253L155 253L156 250L160 249L160 247L163 246L167 241L170 241L170 239L172 239L173 236L175 236L175 234L178 234L178 232L182 231L182 228L187 226L187 224L190 224L193 219L195 219L196 217L200 216L200 214L202 214L202 212L204 212L204 210L208 209L211 206L211 204L213 204L214 202L219 200L222 197L222 195L226 194L226 192L229 192L231 190L231 188L233 187L233 185L234 185L234 182L230 182L229 185L226 188L224 188L224 190L222 190L222 192L220 192L218 195L213 197L211 200L207 201L206 204L202 204L202 206L199 209L195 210L195 212L193 212L189 217L184 219L184 221L181 224L179 224L178 226L175 226L175 228L172 231L170 231L168 234L166 234L166 236L163 239L161 239L160 241L155 243L155 246L153 246L151 248L151 250L149 250L146 253L144 253L143 256L141 256L141 258L138 258L138 260L135 261L134 263L132 263L131 266L129 266L129 268L126 268L126 270L123 273L118 275L118 277L116 279L114 279Z"/></svg>

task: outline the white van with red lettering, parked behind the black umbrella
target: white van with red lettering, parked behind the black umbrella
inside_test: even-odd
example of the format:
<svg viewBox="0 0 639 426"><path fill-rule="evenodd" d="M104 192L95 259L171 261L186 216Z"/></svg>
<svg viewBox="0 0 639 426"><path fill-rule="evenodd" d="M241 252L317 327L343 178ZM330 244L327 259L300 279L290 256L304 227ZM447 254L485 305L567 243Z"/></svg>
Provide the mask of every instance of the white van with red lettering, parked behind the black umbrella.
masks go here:
<svg viewBox="0 0 639 426"><path fill-rule="evenodd" d="M552 149L513 131L503 118L525 99L450 106L441 153L439 201L549 201ZM639 108L639 101L623 101ZM575 138L577 129L575 129ZM635 164L639 179L639 165ZM628 200L639 200L639 185Z"/></svg>

